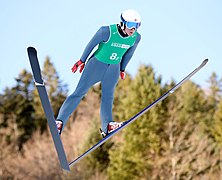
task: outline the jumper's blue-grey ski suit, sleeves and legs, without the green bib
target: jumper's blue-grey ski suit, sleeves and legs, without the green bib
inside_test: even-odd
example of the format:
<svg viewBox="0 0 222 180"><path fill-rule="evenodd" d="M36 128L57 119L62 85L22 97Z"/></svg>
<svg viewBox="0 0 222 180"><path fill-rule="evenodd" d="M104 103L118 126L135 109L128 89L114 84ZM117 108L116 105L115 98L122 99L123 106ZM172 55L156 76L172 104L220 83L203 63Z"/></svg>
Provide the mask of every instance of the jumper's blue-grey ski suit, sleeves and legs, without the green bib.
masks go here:
<svg viewBox="0 0 222 180"><path fill-rule="evenodd" d="M109 26L102 26L86 46L82 54L81 61L86 62L94 47L101 42L107 42L109 37ZM128 62L130 61L138 43L140 42L140 39L141 35L139 34L134 45L130 47L123 55L119 64L106 64L97 60L94 55L89 58L75 91L67 97L59 110L57 119L63 121L63 128L69 116L77 108L78 104L82 100L83 96L87 93L89 88L97 82L101 82L102 96L100 118L102 130L107 132L108 123L113 121L112 105L114 99L114 90L119 79L119 73L120 71L125 71Z"/></svg>

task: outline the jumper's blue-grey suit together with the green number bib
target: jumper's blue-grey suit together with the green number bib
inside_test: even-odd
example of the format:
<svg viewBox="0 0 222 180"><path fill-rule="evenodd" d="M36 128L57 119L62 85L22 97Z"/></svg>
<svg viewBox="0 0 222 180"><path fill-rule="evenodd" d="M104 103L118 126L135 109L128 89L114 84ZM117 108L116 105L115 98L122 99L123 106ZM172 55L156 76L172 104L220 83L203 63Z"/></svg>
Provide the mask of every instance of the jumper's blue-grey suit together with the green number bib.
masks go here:
<svg viewBox="0 0 222 180"><path fill-rule="evenodd" d="M94 47L99 47L87 61L75 91L64 101L57 119L65 125L89 88L101 82L100 118L102 130L107 132L108 123L113 121L114 90L120 70L125 70L140 39L141 35L137 31L132 36L122 37L116 24L102 26L86 46L81 61L86 62Z"/></svg>

